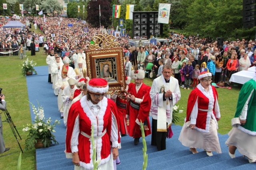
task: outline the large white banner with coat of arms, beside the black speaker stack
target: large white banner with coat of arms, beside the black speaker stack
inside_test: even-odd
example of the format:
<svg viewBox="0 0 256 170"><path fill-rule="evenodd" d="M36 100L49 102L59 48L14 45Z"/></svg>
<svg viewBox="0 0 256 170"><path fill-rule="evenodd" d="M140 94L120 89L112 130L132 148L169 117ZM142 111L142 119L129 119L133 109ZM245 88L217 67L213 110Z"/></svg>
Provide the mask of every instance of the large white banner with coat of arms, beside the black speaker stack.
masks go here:
<svg viewBox="0 0 256 170"><path fill-rule="evenodd" d="M169 23L171 4L159 4L158 23Z"/></svg>

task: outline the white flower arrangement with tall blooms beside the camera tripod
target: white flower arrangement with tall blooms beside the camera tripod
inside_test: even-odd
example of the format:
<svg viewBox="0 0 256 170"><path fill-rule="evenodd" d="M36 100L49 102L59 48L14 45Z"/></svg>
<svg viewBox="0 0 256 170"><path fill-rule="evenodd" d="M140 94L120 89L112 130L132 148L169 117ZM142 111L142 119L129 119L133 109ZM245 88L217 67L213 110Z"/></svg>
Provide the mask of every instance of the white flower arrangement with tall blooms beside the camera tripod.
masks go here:
<svg viewBox="0 0 256 170"><path fill-rule="evenodd" d="M44 147L49 147L52 144L52 141L55 144L58 143L52 133L55 132L55 125L60 125L60 121L56 120L53 124L51 124L51 117L49 119L44 117L44 108L42 106L39 107L38 104L38 108L36 108L33 104L31 105L33 108L33 113L36 116L34 123L27 124L26 127L23 125L24 128L22 131L28 131L28 136L25 141L25 150L34 148L37 140L41 140Z"/></svg>

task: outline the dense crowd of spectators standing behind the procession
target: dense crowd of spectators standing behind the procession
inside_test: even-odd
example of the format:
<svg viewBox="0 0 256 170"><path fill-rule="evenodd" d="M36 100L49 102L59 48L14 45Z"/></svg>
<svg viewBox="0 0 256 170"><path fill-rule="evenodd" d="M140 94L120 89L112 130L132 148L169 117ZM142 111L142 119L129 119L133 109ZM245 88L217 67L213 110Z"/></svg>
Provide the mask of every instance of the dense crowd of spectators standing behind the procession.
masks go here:
<svg viewBox="0 0 256 170"><path fill-rule="evenodd" d="M10 20L15 19L0 18L0 51L15 51L20 48L20 44L23 44L27 50L30 50L30 43L34 41L36 51L39 51L39 47L43 47L44 53L48 55L50 50L54 49L58 56L62 58L68 56L71 58L76 48L83 51L88 50L92 37L102 33L100 28L92 27L92 25L83 23L76 18L60 17L48 17L46 20L38 17L22 17L19 21L24 23L26 28L3 29L2 25ZM71 24L72 26L68 26ZM35 28L38 27L41 33L30 31L32 25ZM114 29L111 31L106 29L106 31L113 33ZM173 31L167 37L168 44L158 42L156 45L149 43L145 46L132 47L128 43L129 39L132 39L132 37L115 37L114 41L124 48L124 56L129 57L135 68L147 70L149 74L151 72L155 73L154 77L156 77L160 66L159 60L163 59L162 65L174 64L172 65L173 74L179 80L180 85L184 85L185 80L190 82L194 79L193 70L188 72L188 74L185 71L186 75L182 71L184 68L183 64L187 65L188 61L190 61L193 69L196 69L196 64L198 64L199 70L206 69L212 75L217 73L215 78L216 84L219 84L221 80L225 81L226 76L229 79L234 72L247 70L256 63L256 46L253 40L237 39L222 43L191 35L184 37L183 34L174 33ZM235 66L233 66L233 60L236 63ZM204 65L203 69L202 65ZM150 75L151 77L153 76L153 74ZM214 76L212 80L214 80Z"/></svg>

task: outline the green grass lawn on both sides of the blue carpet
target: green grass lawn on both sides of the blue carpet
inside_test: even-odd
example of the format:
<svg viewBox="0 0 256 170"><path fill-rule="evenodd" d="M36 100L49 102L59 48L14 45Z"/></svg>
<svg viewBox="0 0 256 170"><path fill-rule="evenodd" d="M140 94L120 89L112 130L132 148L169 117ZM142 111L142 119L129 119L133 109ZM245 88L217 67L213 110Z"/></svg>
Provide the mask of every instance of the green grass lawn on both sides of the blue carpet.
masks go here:
<svg viewBox="0 0 256 170"><path fill-rule="evenodd" d="M32 31L34 29L32 28ZM39 32L39 30L35 30ZM36 52L36 56L30 56L30 51L27 51L27 57L36 61L37 66L46 65L46 55L43 54L43 47L40 52ZM26 59L26 58L25 58ZM7 109L12 117L22 140L19 140L22 149L24 149L24 141L26 133L22 132L22 125L31 123L30 110L28 100L28 92L26 86L26 78L21 74L21 60L19 57L0 57L0 88L3 88L2 93L6 95ZM145 78L144 82L151 86L153 80ZM221 119L219 123L219 133L225 134L231 129L231 119L236 111L236 104L240 87L232 87L232 90L218 88L219 105L221 111ZM191 90L181 89L181 99L177 105L183 107L184 112L180 113L180 121L178 125L183 125L184 117L186 115L186 106L188 95ZM44 106L45 107L45 106ZM2 121L5 116L1 114ZM6 147L11 149L8 152L0 154L0 170L14 170L17 166L20 148L16 139L7 123L3 123L3 135ZM22 154L22 169L34 170L36 169L35 149L24 151Z"/></svg>

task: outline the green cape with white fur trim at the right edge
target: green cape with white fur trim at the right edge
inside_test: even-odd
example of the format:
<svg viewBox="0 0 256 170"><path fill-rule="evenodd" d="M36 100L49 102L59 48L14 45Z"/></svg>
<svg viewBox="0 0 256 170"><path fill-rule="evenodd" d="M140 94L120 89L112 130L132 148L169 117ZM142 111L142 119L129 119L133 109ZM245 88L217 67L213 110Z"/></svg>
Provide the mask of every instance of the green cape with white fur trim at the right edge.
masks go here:
<svg viewBox="0 0 256 170"><path fill-rule="evenodd" d="M247 108L246 123L238 129L256 135L256 81L254 79L246 82L239 93L235 117L239 117L242 111ZM250 97L251 96L251 97Z"/></svg>

